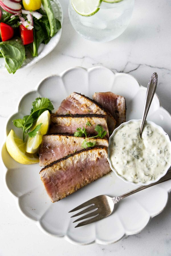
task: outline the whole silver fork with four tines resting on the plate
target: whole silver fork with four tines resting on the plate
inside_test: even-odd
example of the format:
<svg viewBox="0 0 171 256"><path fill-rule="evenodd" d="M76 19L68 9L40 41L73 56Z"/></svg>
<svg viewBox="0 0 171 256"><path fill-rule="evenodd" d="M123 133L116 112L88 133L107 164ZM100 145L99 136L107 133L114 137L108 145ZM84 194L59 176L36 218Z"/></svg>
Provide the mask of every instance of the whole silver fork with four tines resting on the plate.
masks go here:
<svg viewBox="0 0 171 256"><path fill-rule="evenodd" d="M124 195L119 196L119 197L112 198L107 195L98 195L97 197L94 197L94 198L86 201L85 203L82 203L81 205L77 206L76 208L72 209L71 211L69 211L69 213L78 211L86 206L89 206L86 209L80 211L79 213L76 213L75 215L71 216L71 218L82 215L84 213L88 213L89 211L92 211L92 210L94 210L94 211L76 219L75 221L73 221L73 223L90 218L90 217L92 217L92 218L78 223L78 225L76 227L81 227L81 226L93 223L95 221L99 221L99 220L111 215L111 213L114 210L115 204L118 203L121 199L128 197L129 195L137 193L137 192L139 192L143 189L146 189L148 187L152 187L156 184L162 183L164 181L168 181L170 179L171 179L171 169L166 173L166 175L164 177L162 177L159 181L157 181L155 183L152 183L147 186L138 187L137 189L134 189Z"/></svg>

